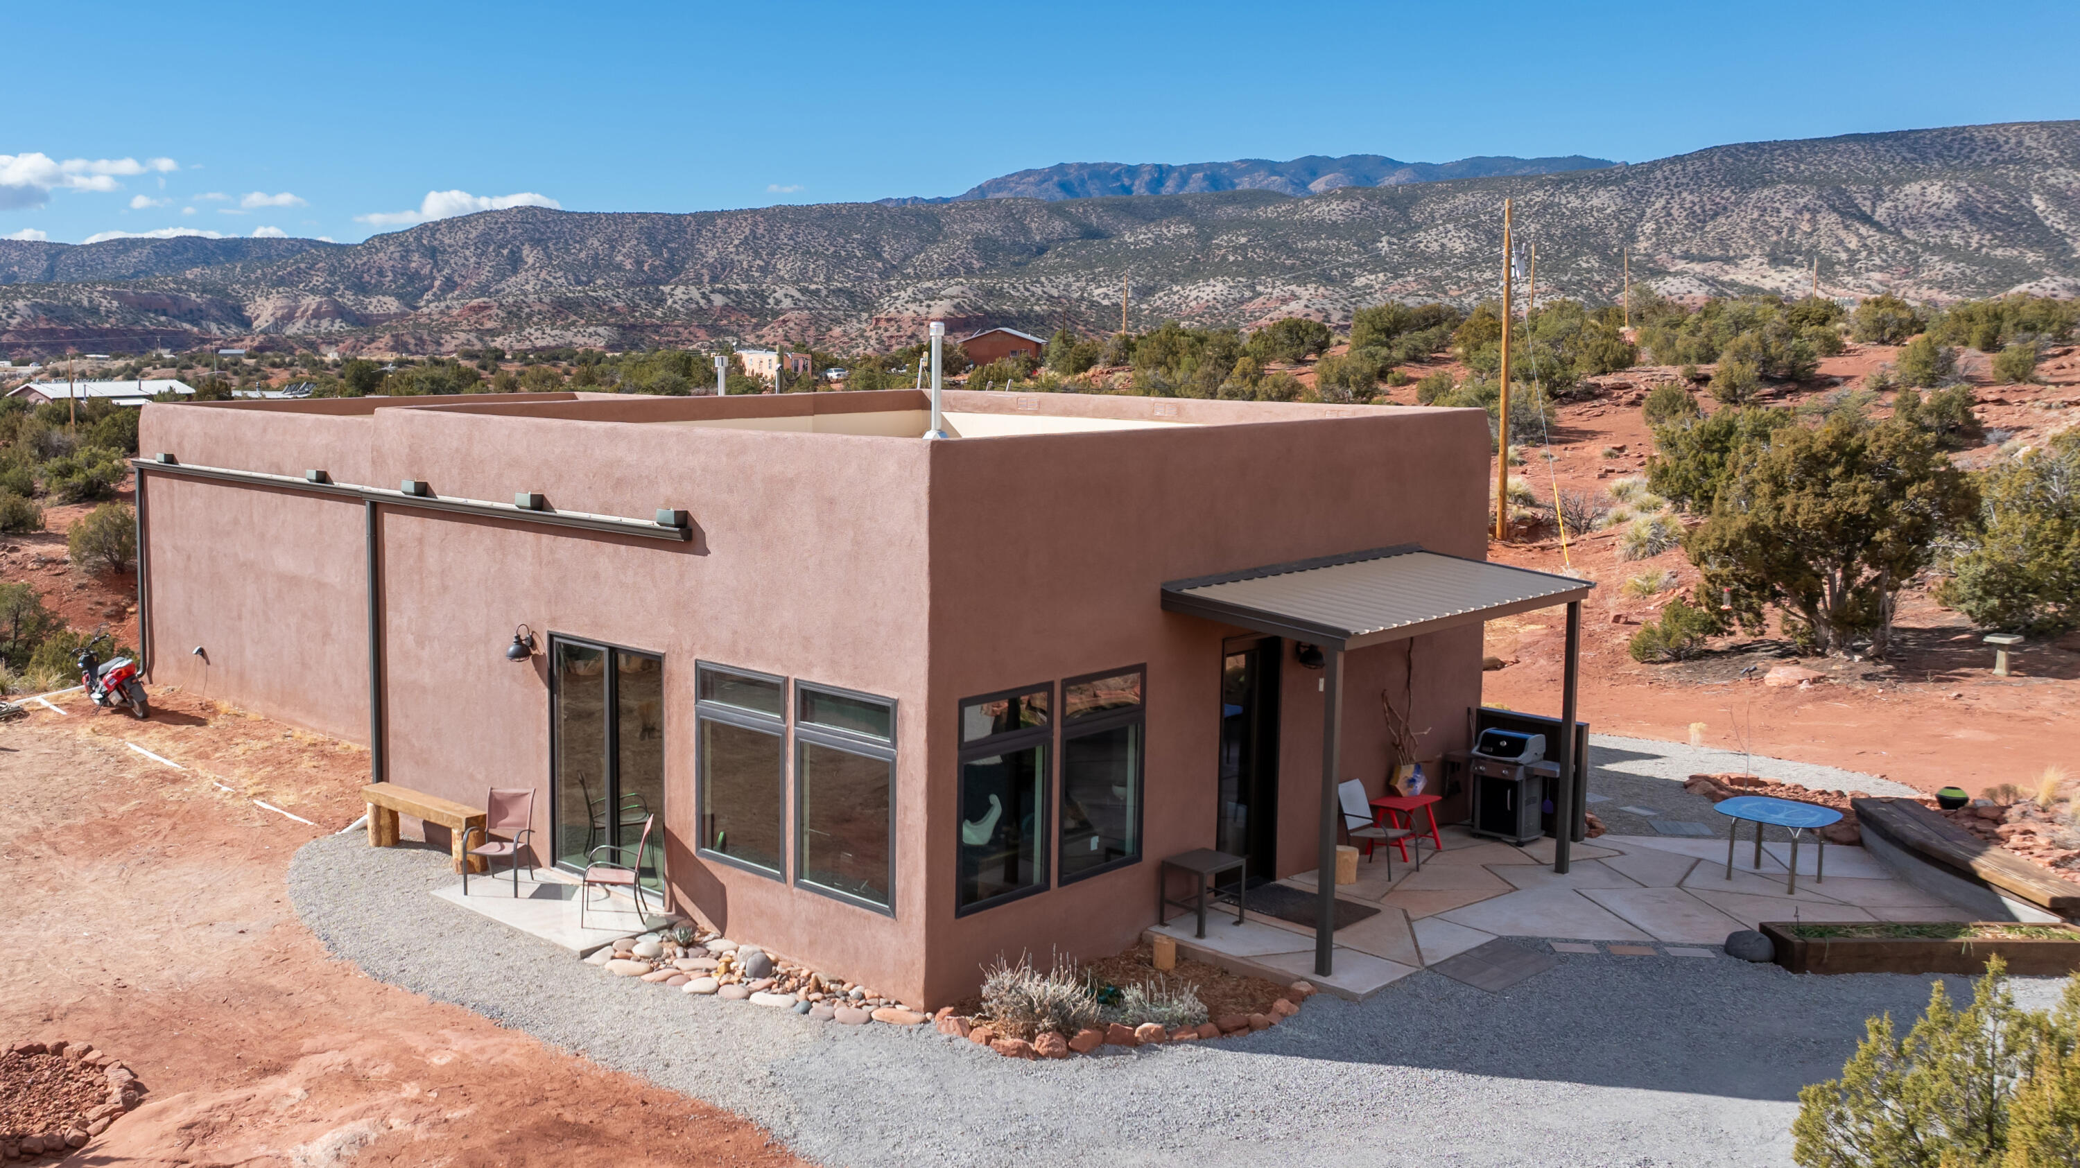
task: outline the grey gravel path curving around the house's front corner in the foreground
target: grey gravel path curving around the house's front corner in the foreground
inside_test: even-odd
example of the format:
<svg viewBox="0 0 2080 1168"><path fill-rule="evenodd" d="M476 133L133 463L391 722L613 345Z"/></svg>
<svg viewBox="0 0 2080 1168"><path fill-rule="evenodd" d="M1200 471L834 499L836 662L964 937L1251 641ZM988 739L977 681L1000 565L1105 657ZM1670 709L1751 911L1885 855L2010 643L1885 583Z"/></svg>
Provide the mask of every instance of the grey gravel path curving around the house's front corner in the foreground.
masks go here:
<svg viewBox="0 0 2080 1168"><path fill-rule="evenodd" d="M930 1027L840 1027L607 977L428 896L445 850L304 846L304 923L370 977L743 1112L832 1166L1789 1164L1797 1089L1920 977L1731 958L1560 956L1506 993L1437 973L1315 998L1244 1039L1017 1062ZM1539 946L1539 941L1520 941ZM1953 991L1966 989L1959 979ZM2028 1006L2053 981L2018 981ZM1400 1149L1400 1151L1392 1151Z"/></svg>

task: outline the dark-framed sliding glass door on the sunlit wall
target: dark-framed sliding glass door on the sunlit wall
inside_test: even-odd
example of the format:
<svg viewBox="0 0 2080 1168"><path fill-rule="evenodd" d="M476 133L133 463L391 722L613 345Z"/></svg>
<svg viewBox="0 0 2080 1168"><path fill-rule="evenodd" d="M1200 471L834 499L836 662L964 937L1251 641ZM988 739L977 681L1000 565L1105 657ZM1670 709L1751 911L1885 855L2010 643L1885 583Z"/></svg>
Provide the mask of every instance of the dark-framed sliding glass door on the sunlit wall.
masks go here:
<svg viewBox="0 0 2080 1168"><path fill-rule="evenodd" d="M607 715L612 711L612 717ZM555 862L582 869L601 846L634 848L643 883L664 879L664 657L549 638ZM626 862L626 856L605 856Z"/></svg>

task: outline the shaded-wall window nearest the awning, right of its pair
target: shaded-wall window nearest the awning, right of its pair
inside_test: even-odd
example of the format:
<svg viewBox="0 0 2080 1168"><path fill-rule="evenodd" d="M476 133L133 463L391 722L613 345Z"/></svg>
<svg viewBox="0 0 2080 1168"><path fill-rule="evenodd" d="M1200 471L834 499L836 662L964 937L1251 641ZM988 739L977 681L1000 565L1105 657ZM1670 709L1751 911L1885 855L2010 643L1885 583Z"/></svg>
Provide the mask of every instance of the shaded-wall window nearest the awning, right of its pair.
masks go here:
<svg viewBox="0 0 2080 1168"><path fill-rule="evenodd" d="M1142 858L1146 667L1061 686L1061 879Z"/></svg>

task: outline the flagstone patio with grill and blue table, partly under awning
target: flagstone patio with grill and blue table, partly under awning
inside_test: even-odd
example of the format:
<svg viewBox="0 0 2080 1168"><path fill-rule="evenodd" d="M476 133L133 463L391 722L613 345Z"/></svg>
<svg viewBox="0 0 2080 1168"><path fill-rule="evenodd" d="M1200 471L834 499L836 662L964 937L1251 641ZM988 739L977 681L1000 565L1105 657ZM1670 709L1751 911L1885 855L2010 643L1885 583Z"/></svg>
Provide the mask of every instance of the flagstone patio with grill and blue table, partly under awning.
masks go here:
<svg viewBox="0 0 2080 1168"><path fill-rule="evenodd" d="M1312 925L1260 912L1244 912L1238 925L1233 917L1208 912L1204 939L1192 935L1196 921L1190 914L1152 933L1238 973L1304 977L1337 998L1362 1000L1496 937L1548 937L1570 946L1560 952L1585 952L1587 944L1587 952L1616 956L1714 956L1726 933L1762 921L1972 919L1851 846L1826 850L1826 877L1818 881L1816 848L1799 848L1797 887L1787 890L1789 844L1764 844L1760 867L1751 842L1735 844L1733 875L1726 873L1724 840L1602 835L1572 848L1564 875L1552 871L1552 840L1516 848L1446 827L1444 844L1441 852L1423 850L1423 871L1396 858L1389 875L1385 856L1358 862L1356 883L1335 894L1379 912L1335 931L1335 973L1329 977L1312 973ZM1279 883L1315 890L1315 873Z"/></svg>

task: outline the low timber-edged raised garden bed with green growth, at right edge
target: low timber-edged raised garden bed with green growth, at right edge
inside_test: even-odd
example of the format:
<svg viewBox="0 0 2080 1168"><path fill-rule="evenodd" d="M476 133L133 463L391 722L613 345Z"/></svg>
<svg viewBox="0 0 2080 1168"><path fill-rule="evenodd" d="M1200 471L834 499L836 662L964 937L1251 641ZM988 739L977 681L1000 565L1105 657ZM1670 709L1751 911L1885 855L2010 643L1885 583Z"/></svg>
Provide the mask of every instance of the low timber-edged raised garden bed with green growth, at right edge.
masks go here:
<svg viewBox="0 0 2080 1168"><path fill-rule="evenodd" d="M2080 971L2080 929L2070 925L1826 923L1764 921L1776 964L1791 973L1986 973L1999 956L2007 973L2061 977Z"/></svg>

